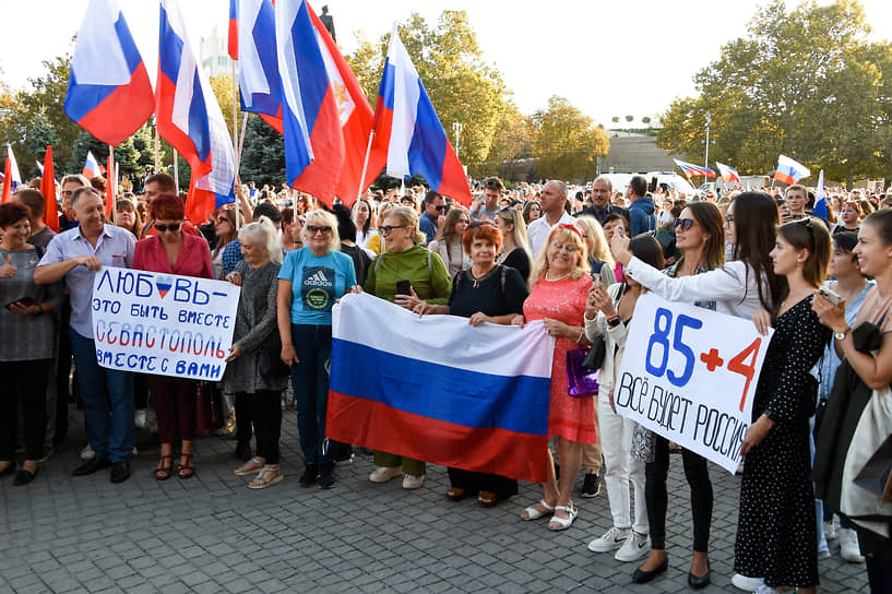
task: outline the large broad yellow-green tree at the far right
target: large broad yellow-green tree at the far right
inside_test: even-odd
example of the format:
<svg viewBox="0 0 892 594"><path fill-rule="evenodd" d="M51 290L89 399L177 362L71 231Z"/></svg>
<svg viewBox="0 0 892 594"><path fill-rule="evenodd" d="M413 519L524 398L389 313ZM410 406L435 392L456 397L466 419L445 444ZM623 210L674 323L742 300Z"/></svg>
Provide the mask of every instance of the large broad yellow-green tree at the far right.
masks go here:
<svg viewBox="0 0 892 594"><path fill-rule="evenodd" d="M770 171L781 153L849 185L888 174L892 46L869 32L855 0L792 12L774 0L695 75L700 95L670 105L657 144L702 158L709 111L710 155L741 174Z"/></svg>

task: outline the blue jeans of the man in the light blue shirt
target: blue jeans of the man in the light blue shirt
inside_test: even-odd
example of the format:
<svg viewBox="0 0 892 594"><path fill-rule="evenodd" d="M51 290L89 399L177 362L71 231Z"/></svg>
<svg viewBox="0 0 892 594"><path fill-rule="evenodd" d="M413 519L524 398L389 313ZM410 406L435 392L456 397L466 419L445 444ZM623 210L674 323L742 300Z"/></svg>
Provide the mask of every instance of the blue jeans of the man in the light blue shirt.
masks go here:
<svg viewBox="0 0 892 594"><path fill-rule="evenodd" d="M133 373L106 369L96 363L93 338L69 328L78 385L84 401L86 435L96 459L130 460L136 430L133 426Z"/></svg>

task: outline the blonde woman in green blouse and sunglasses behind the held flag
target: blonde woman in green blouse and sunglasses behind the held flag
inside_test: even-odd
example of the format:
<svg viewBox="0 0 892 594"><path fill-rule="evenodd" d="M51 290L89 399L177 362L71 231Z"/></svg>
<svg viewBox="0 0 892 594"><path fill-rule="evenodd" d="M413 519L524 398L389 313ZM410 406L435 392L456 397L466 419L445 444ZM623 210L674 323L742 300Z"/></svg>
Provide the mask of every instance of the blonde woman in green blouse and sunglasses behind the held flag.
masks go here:
<svg viewBox="0 0 892 594"><path fill-rule="evenodd" d="M440 257L419 243L425 234L418 230L418 213L408 206L390 209L381 223L386 251L369 268L364 289L376 297L415 310L423 304L445 305L451 283ZM403 488L417 489L425 482L425 463L389 452L374 452L372 483L386 483L404 474Z"/></svg>

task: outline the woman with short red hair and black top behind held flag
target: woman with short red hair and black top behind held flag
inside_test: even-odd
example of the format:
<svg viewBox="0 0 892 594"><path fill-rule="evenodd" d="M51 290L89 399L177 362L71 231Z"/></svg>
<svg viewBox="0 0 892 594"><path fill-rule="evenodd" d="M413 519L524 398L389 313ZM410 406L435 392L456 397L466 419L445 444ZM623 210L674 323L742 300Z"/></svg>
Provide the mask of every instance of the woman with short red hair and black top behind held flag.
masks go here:
<svg viewBox="0 0 892 594"><path fill-rule="evenodd" d="M437 306L421 302L414 311L419 314L461 316L469 318L471 325L480 322L510 324L514 316L523 313L527 292L526 282L516 270L496 264L501 243L502 235L495 225L488 221L472 223L462 237L462 246L472 265L455 274L449 304ZM449 482L447 497L460 501L477 494L477 502L484 508L491 508L518 494L516 480L496 474L450 467Z"/></svg>

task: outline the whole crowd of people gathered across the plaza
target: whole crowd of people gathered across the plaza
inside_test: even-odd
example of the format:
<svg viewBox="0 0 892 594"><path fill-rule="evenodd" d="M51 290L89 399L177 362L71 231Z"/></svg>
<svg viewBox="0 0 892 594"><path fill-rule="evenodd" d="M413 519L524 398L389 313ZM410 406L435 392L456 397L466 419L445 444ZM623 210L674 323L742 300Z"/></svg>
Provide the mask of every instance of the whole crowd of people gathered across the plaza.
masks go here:
<svg viewBox="0 0 892 594"><path fill-rule="evenodd" d="M365 292L471 325L542 320L555 337L551 441L542 499L521 518L567 530L579 514L573 494L594 497L603 478L612 525L588 549L640 561L632 580L646 583L669 565L667 476L677 445L617 414L614 387L622 358L640 356L625 346L635 302L650 290L752 320L763 333L774 328L741 449L734 584L814 592L819 559L836 537L847 561L866 563L872 592L892 592L892 515L880 496L851 492L846 465L849 444L863 443L859 419L892 381L892 194L832 189L822 216L802 186L686 197L643 176L623 191L604 177L512 189L489 178L473 186L469 207L420 186L369 190L353 207L329 207L249 183L237 187L235 203L190 222L166 174L145 179L139 195L106 197L100 181L62 179L58 235L43 222L38 190L0 205L0 476L15 485L33 482L67 439L72 369L88 437L74 476L110 468L112 483L127 480L135 419L146 408L157 417L155 478L199 472L197 417L206 401L197 393L207 387L96 361L93 276L123 266L241 287L228 366L212 388L234 396L241 462L234 474L252 477L253 489L284 479L282 394L290 381L298 483L332 488L336 465L355 456L325 435L332 307ZM597 342L598 394L578 397L567 353ZM693 533L688 583L697 590L710 583L715 496L706 460L680 453ZM402 476L405 489L424 485L426 461L385 451L372 461L372 483ZM451 500L492 507L518 494L516 480L498 474L450 467L449 478ZM865 497L880 501L873 512L851 511Z"/></svg>

